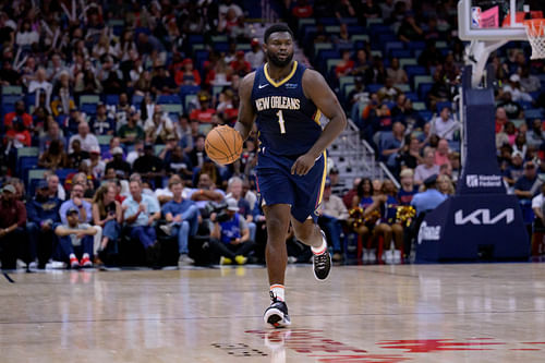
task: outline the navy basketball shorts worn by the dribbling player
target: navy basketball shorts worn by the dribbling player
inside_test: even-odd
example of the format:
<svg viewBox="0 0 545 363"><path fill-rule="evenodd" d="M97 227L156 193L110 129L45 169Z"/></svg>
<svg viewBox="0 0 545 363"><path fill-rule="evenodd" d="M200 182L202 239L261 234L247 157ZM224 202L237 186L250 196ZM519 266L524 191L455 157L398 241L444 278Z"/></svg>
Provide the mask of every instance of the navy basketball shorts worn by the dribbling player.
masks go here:
<svg viewBox="0 0 545 363"><path fill-rule="evenodd" d="M291 167L299 156L280 156L268 149L257 158L257 192L262 205L289 204L291 215L304 222L318 219L327 174L326 153L323 153L306 176L291 174Z"/></svg>

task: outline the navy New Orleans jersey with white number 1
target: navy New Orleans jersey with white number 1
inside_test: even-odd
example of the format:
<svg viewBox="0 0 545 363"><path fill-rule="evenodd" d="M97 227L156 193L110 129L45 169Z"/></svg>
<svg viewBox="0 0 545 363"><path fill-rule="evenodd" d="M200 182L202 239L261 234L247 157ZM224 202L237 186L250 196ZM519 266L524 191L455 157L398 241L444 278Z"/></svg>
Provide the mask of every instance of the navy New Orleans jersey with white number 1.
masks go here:
<svg viewBox="0 0 545 363"><path fill-rule="evenodd" d="M305 66L293 62L291 73L280 82L267 68L255 71L252 105L257 114L262 149L295 156L308 152L322 134L320 111L303 93Z"/></svg>

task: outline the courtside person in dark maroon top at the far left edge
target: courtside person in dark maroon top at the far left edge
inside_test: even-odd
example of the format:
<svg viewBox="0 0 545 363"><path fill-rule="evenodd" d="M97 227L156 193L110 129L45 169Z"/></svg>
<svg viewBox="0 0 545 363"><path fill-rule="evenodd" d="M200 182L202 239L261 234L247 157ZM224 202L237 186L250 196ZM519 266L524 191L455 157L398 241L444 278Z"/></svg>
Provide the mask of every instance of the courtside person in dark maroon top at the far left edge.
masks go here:
<svg viewBox="0 0 545 363"><path fill-rule="evenodd" d="M15 269L17 257L25 253L26 208L15 196L15 186L8 184L2 189L0 201L0 261L2 269Z"/></svg>

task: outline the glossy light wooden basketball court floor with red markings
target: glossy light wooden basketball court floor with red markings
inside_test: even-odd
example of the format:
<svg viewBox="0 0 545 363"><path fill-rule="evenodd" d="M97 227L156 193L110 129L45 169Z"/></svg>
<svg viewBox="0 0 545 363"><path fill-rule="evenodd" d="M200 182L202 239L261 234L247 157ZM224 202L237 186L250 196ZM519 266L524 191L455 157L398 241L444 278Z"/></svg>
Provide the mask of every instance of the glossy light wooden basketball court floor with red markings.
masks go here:
<svg viewBox="0 0 545 363"><path fill-rule="evenodd" d="M543 362L545 265L290 266L0 276L1 362Z"/></svg>

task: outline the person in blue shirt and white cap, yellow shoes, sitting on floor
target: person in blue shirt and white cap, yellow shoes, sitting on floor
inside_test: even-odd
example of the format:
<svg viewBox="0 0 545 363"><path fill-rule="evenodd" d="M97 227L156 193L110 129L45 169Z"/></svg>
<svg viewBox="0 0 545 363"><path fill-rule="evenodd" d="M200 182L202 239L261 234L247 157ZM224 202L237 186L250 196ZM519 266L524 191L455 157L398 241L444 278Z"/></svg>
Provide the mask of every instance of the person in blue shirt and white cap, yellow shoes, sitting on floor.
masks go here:
<svg viewBox="0 0 545 363"><path fill-rule="evenodd" d="M210 246L220 255L220 265L230 265L233 262L244 265L255 243L250 240L250 229L244 217L238 214L237 199L229 197L226 202L225 211L210 215L210 221L214 223Z"/></svg>

